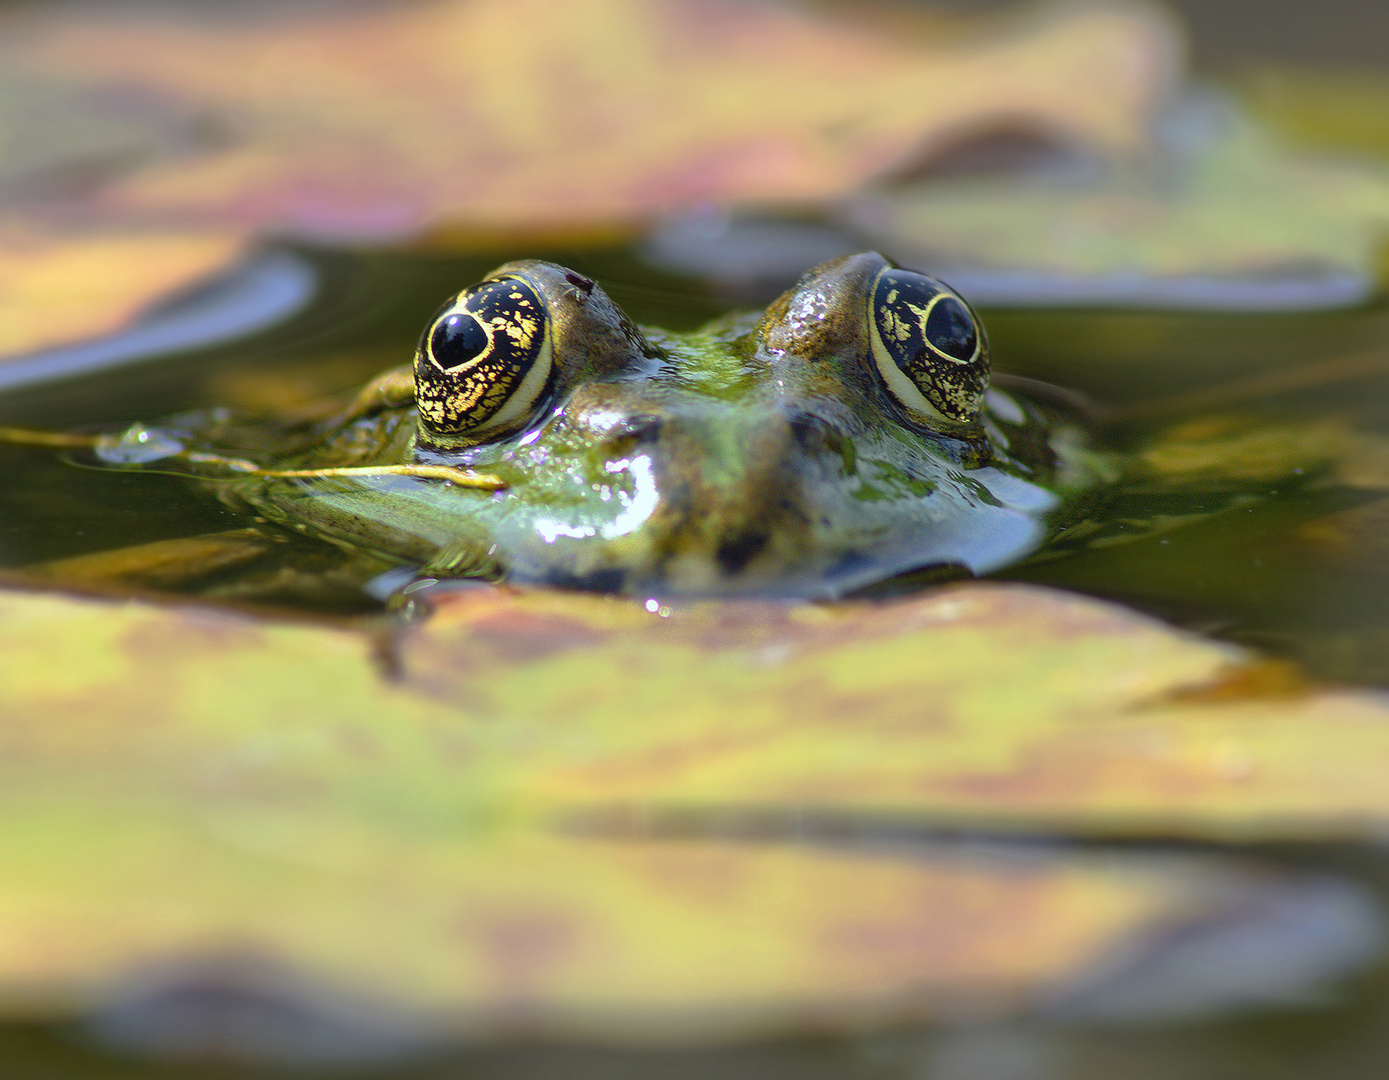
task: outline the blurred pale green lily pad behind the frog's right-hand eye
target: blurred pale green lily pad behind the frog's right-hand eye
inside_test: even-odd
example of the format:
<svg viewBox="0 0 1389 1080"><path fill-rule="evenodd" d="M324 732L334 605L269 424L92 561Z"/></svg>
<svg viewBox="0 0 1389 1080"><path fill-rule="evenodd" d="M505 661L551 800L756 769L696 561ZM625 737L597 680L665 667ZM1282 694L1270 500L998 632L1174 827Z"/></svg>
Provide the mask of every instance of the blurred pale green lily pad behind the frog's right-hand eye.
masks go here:
<svg viewBox="0 0 1389 1080"><path fill-rule="evenodd" d="M851 217L982 303L1317 308L1378 287L1389 167L1297 151L1207 97L1146 164L942 178Z"/></svg>

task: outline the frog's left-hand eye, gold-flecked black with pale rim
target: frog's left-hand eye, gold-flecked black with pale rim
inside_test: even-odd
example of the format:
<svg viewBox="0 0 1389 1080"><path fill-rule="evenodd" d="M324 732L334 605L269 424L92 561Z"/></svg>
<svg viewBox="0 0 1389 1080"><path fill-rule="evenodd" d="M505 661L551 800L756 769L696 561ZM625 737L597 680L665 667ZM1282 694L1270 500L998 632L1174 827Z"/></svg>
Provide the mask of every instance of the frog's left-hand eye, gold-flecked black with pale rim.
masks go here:
<svg viewBox="0 0 1389 1080"><path fill-rule="evenodd" d="M415 353L415 404L439 434L490 436L517 428L550 383L549 318L521 278L458 293Z"/></svg>

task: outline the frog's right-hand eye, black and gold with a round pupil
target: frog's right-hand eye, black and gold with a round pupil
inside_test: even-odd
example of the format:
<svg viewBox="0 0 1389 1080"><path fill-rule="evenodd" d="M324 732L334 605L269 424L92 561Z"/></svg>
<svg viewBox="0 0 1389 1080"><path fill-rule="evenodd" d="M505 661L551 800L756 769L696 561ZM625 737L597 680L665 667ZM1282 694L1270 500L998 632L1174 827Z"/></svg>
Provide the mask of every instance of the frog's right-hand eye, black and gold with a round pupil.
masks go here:
<svg viewBox="0 0 1389 1080"><path fill-rule="evenodd" d="M989 347L970 305L949 286L888 267L874 283L868 323L883 383L908 412L947 423L978 418L989 389Z"/></svg>

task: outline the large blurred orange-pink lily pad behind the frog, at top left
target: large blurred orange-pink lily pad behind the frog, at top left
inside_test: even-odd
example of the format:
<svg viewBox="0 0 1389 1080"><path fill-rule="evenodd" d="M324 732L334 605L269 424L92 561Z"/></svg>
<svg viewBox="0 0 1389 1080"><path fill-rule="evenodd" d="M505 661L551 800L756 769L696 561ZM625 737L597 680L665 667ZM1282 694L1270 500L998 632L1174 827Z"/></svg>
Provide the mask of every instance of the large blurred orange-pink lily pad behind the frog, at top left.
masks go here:
<svg viewBox="0 0 1389 1080"><path fill-rule="evenodd" d="M254 233L535 243L842 196L1000 125L1143 143L1161 17L970 26L904 43L726 0L4 12L0 354L110 333Z"/></svg>

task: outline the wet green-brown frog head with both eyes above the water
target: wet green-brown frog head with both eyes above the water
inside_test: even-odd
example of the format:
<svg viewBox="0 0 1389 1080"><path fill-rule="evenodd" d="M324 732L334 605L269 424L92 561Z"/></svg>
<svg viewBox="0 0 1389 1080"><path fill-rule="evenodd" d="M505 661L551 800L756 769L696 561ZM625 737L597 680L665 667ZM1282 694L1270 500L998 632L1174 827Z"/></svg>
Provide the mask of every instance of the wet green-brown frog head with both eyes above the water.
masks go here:
<svg viewBox="0 0 1389 1080"><path fill-rule="evenodd" d="M1054 418L989 389L968 304L872 253L688 335L508 262L332 421L250 451L238 423L138 428L103 457L232 469L224 498L404 568L396 586L839 596L1018 559L1093 479Z"/></svg>

